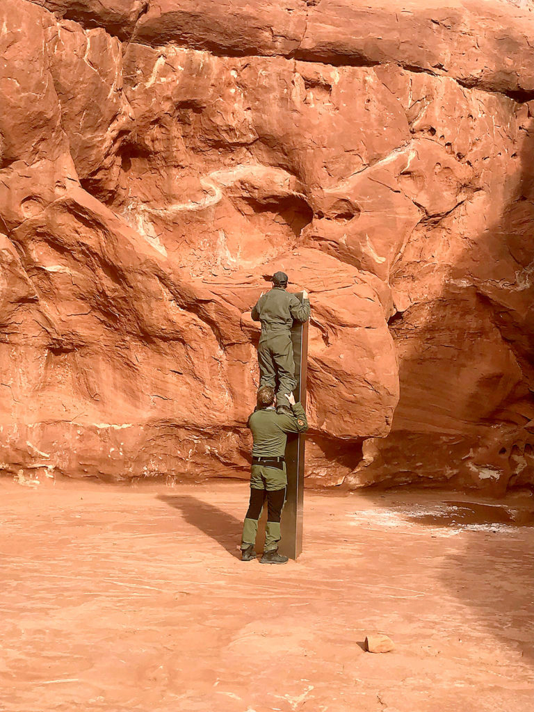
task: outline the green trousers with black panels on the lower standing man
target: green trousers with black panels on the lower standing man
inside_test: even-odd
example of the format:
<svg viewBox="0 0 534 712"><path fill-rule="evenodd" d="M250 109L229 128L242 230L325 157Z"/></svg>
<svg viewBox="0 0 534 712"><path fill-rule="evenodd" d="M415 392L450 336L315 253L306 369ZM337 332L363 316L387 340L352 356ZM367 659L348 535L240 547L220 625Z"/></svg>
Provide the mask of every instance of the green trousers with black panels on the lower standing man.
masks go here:
<svg viewBox="0 0 534 712"><path fill-rule="evenodd" d="M265 546L263 551L275 551L281 539L280 520L283 506L286 503L286 463L283 470L276 467L253 465L251 471L251 499L248 503L241 549L246 549L256 543L258 520L267 500L267 524L265 528Z"/></svg>

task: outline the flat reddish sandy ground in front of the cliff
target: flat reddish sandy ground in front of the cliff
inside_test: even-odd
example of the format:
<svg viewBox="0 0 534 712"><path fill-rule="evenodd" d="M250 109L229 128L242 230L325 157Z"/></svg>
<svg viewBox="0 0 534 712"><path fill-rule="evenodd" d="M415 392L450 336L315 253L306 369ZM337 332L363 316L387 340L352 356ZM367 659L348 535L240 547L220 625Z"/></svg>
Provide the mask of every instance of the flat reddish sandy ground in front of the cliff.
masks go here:
<svg viewBox="0 0 534 712"><path fill-rule="evenodd" d="M0 709L534 712L532 498L307 493L265 566L247 496L0 481Z"/></svg>

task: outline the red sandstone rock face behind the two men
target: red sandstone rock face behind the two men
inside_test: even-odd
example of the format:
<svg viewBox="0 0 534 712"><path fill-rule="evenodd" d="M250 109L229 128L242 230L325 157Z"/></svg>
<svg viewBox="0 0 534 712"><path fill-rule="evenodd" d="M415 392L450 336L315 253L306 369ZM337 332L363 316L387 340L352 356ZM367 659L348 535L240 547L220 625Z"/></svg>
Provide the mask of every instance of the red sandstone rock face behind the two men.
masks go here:
<svg viewBox="0 0 534 712"><path fill-rule="evenodd" d="M247 476L265 276L308 481L534 482L530 3L3 0L1 471Z"/></svg>

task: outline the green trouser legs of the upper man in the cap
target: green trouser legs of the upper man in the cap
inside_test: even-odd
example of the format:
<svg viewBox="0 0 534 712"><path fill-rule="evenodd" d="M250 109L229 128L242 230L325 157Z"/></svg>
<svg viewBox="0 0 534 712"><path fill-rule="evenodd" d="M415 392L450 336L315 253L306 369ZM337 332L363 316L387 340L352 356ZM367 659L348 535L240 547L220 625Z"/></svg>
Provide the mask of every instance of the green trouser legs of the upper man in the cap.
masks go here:
<svg viewBox="0 0 534 712"><path fill-rule="evenodd" d="M297 387L293 342L289 330L263 330L258 345L260 387L276 389L278 405L288 405L284 395Z"/></svg>

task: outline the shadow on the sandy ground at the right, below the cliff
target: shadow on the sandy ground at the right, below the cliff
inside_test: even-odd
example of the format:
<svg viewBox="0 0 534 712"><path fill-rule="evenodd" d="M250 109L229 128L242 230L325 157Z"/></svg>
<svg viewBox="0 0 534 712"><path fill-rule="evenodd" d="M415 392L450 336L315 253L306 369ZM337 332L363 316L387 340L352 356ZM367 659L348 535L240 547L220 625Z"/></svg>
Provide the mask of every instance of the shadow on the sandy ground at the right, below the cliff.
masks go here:
<svg viewBox="0 0 534 712"><path fill-rule="evenodd" d="M390 499L394 493L398 497ZM451 551L444 544L436 579L454 595L466 614L473 612L476 622L491 634L498 648L504 644L511 651L511 664L523 659L534 666L533 499L496 500L487 493L472 491L454 497L450 491L442 490L436 495L437 491L432 493L427 488L395 488L387 494L369 488L360 491L358 498L398 513L407 523L429 527L429 536L438 539L439 530L456 530L462 546ZM404 565L409 570L412 561L407 558ZM434 605L439 608L439 600ZM466 623L466 635L469 634Z"/></svg>

